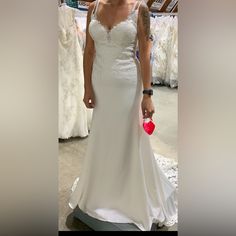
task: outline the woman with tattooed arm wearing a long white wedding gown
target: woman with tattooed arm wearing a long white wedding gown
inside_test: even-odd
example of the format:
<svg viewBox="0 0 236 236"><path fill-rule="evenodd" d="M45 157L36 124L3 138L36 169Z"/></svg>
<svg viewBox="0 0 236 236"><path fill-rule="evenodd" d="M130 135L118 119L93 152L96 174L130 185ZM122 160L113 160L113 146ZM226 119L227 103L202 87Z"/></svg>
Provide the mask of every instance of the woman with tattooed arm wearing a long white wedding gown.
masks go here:
<svg viewBox="0 0 236 236"><path fill-rule="evenodd" d="M139 45L140 63L136 59ZM152 117L150 18L137 0L97 0L87 18L84 103L94 108L83 173L70 206L100 220L176 222L176 190L154 160L143 117ZM143 91L143 94L142 94ZM141 108L141 109L140 109ZM141 113L142 111L142 113Z"/></svg>

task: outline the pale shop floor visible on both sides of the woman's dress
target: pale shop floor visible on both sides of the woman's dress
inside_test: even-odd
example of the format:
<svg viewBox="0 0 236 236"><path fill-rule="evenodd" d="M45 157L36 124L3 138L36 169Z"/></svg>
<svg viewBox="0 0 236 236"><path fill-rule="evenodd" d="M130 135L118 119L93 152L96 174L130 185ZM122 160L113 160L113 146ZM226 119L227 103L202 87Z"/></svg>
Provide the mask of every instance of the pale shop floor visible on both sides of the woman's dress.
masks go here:
<svg viewBox="0 0 236 236"><path fill-rule="evenodd" d="M177 101L178 91L168 87L154 86L154 121L156 131L150 136L154 152L177 161ZM89 137L88 137L89 138ZM88 138L61 140L59 143L59 230L88 231L88 226L74 220L68 206L70 188L80 175ZM177 225L160 228L161 231L176 231Z"/></svg>

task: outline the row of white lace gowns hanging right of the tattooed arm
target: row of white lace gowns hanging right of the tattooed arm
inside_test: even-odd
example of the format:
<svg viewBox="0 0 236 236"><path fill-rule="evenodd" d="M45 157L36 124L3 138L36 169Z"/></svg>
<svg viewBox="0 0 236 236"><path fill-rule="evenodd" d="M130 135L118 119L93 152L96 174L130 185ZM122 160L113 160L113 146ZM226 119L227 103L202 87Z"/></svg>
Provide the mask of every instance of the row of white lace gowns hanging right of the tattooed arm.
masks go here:
<svg viewBox="0 0 236 236"><path fill-rule="evenodd" d="M178 86L178 33L177 16L151 18L154 35L152 48L152 82L171 88Z"/></svg>

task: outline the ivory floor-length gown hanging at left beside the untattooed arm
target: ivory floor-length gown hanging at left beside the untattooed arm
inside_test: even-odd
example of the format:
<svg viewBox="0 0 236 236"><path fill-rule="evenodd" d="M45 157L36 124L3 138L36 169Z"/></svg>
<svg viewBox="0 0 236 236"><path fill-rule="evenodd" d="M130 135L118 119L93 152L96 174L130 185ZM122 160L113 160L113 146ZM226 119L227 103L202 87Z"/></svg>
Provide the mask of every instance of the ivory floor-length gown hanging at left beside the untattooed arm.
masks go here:
<svg viewBox="0 0 236 236"><path fill-rule="evenodd" d="M76 9L58 8L59 138L88 135L89 116L83 103L83 53L79 45Z"/></svg>

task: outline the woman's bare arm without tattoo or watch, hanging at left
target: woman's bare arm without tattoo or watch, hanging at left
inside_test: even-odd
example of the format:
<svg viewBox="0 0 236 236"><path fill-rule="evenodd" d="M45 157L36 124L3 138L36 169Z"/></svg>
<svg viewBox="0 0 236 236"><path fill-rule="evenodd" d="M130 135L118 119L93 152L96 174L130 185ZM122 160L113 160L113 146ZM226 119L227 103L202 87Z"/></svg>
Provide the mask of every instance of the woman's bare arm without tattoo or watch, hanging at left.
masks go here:
<svg viewBox="0 0 236 236"><path fill-rule="evenodd" d="M87 14L87 26L86 26L86 44L84 48L84 103L87 108L94 108L95 106L95 96L92 86L92 69L93 69L93 60L94 60L94 41L89 33L89 23L91 21L91 14L94 10L95 3L91 3L88 9Z"/></svg>

